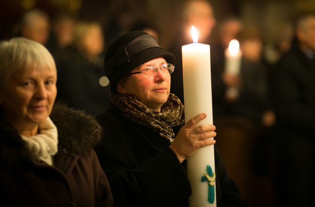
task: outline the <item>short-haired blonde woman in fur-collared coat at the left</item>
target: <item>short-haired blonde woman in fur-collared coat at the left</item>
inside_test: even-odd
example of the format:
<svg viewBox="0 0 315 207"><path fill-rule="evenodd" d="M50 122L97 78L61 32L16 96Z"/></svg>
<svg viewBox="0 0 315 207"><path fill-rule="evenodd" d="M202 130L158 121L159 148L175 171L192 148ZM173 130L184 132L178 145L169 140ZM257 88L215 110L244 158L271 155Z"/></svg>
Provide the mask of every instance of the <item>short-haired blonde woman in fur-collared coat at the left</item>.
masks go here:
<svg viewBox="0 0 315 207"><path fill-rule="evenodd" d="M111 207L93 150L94 118L56 105L56 66L41 44L0 42L0 206Z"/></svg>

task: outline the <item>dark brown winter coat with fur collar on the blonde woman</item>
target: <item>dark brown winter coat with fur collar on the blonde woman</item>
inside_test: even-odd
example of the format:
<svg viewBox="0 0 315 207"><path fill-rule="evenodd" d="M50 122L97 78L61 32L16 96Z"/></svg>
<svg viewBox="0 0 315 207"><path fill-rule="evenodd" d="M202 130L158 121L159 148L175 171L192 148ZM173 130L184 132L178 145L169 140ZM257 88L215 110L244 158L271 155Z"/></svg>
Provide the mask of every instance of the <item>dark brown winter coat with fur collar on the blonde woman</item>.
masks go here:
<svg viewBox="0 0 315 207"><path fill-rule="evenodd" d="M1 207L112 207L110 186L93 150L101 128L82 112L55 105L53 166L31 159L19 133L0 118Z"/></svg>

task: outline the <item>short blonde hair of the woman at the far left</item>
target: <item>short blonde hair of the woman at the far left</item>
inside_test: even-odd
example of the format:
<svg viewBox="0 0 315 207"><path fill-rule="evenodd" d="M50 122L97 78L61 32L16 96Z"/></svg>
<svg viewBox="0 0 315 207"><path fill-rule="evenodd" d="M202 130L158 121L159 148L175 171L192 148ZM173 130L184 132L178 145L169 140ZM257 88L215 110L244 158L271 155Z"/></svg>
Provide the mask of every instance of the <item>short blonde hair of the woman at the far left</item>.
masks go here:
<svg viewBox="0 0 315 207"><path fill-rule="evenodd" d="M0 42L0 88L12 74L24 69L48 69L57 74L56 65L49 51L35 41L16 37Z"/></svg>

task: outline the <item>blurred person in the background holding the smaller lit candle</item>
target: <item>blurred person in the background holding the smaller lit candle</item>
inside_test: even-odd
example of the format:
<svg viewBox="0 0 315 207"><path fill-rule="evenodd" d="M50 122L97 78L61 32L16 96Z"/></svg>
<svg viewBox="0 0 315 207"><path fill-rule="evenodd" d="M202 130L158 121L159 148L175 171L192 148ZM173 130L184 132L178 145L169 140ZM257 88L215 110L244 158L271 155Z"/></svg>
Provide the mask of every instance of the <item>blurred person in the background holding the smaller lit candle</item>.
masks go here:
<svg viewBox="0 0 315 207"><path fill-rule="evenodd" d="M256 27L241 30L237 40L242 50L240 74L231 81L230 74L223 73L228 87L238 90L236 97L228 97L231 115L250 120L257 128L273 126L275 122L269 91L268 69L262 60L263 38ZM228 47L228 46L227 46Z"/></svg>

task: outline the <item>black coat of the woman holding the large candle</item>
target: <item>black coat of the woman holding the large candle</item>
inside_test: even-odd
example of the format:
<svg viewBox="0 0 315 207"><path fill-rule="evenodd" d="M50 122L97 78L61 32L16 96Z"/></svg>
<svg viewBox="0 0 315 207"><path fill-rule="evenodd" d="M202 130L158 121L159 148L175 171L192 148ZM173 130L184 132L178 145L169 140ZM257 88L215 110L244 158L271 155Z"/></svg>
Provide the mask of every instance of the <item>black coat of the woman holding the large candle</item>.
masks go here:
<svg viewBox="0 0 315 207"><path fill-rule="evenodd" d="M129 121L117 108L98 116L103 127L96 154L105 170L115 207L186 207L191 188L186 166L169 141ZM246 206L233 180L227 177L215 150L218 207Z"/></svg>

